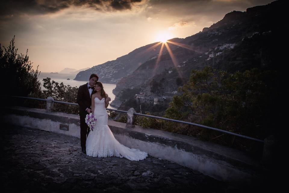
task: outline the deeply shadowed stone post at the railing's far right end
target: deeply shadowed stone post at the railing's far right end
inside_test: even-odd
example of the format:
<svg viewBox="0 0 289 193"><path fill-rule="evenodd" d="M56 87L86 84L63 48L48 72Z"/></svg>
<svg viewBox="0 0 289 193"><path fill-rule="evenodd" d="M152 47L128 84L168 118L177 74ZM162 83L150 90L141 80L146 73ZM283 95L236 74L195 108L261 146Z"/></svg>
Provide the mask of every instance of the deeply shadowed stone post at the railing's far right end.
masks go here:
<svg viewBox="0 0 289 193"><path fill-rule="evenodd" d="M265 167L270 167L273 162L273 151L275 146L275 138L273 135L264 139L263 156L261 163Z"/></svg>

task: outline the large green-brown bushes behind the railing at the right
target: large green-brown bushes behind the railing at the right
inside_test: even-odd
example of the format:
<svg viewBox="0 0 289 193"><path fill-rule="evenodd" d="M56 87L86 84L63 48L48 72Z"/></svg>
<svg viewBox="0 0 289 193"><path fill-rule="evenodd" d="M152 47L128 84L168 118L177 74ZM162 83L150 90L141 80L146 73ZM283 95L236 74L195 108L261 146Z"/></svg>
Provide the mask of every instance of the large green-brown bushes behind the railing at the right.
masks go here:
<svg viewBox="0 0 289 193"><path fill-rule="evenodd" d="M165 116L264 139L274 132L269 120L274 112L272 99L277 99L275 78L275 71L257 68L234 74L210 66L193 70L188 84L179 90L182 95L174 96ZM217 131L191 127L193 131L189 132L188 126L176 123L166 126L179 128L179 133L186 131L203 139L250 149L247 140Z"/></svg>

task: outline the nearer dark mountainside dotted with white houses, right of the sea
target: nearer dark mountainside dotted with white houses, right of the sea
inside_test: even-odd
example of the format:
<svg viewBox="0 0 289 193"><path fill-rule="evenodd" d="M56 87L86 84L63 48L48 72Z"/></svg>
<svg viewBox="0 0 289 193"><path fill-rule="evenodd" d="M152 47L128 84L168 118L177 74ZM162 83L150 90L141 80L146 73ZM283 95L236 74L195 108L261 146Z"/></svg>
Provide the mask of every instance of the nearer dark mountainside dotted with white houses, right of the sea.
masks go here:
<svg viewBox="0 0 289 193"><path fill-rule="evenodd" d="M137 88L151 98L176 93L192 69L207 65L228 72L255 67L278 70L285 52L280 44L287 39L287 5L287 1L275 1L245 12L232 11L202 32L182 39L179 46L168 43L175 63L167 49L158 61L157 56L147 60L117 83L112 105L120 106L120 95L126 89Z"/></svg>

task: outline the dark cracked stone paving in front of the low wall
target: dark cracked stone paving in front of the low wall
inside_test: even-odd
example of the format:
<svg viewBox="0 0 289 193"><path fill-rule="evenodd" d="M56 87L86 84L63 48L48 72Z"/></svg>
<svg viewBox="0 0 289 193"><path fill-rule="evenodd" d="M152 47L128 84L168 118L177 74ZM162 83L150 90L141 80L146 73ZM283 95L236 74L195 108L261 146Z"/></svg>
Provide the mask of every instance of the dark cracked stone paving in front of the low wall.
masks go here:
<svg viewBox="0 0 289 193"><path fill-rule="evenodd" d="M1 192L239 192L235 185L149 156L88 157L80 139L4 125ZM4 191L3 191L4 190Z"/></svg>

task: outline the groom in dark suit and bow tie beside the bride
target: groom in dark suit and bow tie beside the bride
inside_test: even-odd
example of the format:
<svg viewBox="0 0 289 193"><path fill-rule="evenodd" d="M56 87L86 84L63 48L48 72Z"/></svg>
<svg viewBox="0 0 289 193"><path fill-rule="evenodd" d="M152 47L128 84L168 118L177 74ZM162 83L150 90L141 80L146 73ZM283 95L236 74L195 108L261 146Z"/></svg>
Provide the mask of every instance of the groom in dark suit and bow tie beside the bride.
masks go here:
<svg viewBox="0 0 289 193"><path fill-rule="evenodd" d="M91 113L91 94L94 89L95 83L98 81L98 76L96 74L91 74L89 77L89 82L81 85L78 88L76 102L79 104L79 117L80 117L80 144L83 153L86 153L85 143L86 136L89 134L89 128L85 123L85 117L87 114ZM110 101L110 97L105 99Z"/></svg>

